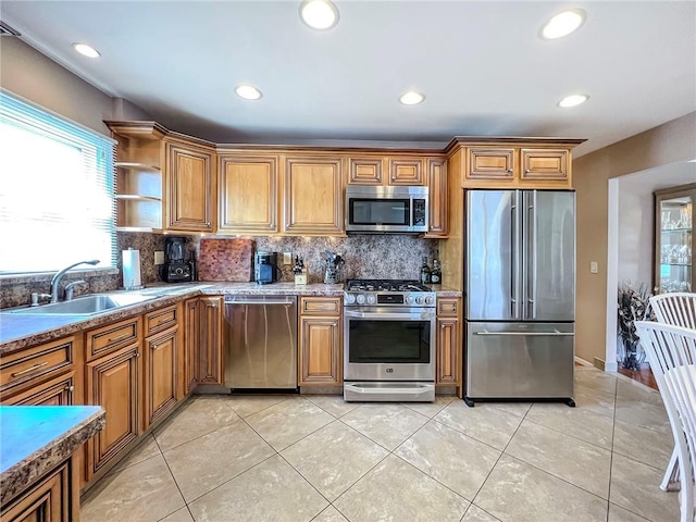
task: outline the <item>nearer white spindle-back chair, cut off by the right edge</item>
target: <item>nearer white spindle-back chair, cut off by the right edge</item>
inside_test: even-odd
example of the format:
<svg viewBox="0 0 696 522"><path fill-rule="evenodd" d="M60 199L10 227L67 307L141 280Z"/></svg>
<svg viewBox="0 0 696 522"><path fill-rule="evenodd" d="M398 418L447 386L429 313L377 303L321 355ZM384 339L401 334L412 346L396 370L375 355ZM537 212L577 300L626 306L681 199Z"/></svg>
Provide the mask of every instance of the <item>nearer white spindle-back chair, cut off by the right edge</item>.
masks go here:
<svg viewBox="0 0 696 522"><path fill-rule="evenodd" d="M676 443L682 488L680 520L694 522L696 330L651 321L636 321L635 326L660 388Z"/></svg>

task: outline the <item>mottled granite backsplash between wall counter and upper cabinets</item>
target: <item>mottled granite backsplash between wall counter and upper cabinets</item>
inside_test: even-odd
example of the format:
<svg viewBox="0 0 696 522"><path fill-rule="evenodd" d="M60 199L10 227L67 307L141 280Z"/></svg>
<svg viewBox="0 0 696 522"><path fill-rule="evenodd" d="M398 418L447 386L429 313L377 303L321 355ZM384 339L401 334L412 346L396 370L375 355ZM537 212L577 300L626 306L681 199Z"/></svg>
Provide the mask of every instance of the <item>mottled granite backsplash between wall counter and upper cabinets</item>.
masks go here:
<svg viewBox="0 0 696 522"><path fill-rule="evenodd" d="M190 251L200 252L200 236L178 235L186 238L186 259ZM163 251L167 235L148 233L117 233L117 272L71 272L62 279L61 286L73 281L85 279L86 284L75 288L75 296L110 291L123 287L121 275L121 251L128 247L140 251L140 274L142 284L161 282L159 265L154 264L154 252ZM225 236L211 236L219 239ZM228 237L228 236L227 236ZM272 237L257 236L253 251L278 252L278 264L282 271L281 282L291 282L295 257L304 261L309 271L309 283L322 283L326 251L340 254L345 260L338 272L339 281L349 278L403 278L418 279L423 257L427 257L432 266L433 259L438 256L437 240L423 239L406 235L350 235L348 237ZM290 252L293 263L283 264L283 252ZM40 274L0 279L0 308L20 307L29 303L34 291L49 293L53 274ZM445 282L447 283L447 282Z"/></svg>

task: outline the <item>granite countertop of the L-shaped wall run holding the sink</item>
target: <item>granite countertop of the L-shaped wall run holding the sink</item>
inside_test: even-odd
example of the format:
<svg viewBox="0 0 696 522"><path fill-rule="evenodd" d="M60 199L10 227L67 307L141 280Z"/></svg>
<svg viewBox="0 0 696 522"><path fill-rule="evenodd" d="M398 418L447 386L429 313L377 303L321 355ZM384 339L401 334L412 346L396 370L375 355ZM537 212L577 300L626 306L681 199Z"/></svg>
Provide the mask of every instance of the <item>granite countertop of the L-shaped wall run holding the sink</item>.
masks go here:
<svg viewBox="0 0 696 522"><path fill-rule="evenodd" d="M461 291L442 285L433 285L433 290L437 293L438 297L461 297ZM149 286L144 290L135 290L135 293L149 293L157 295L157 297L137 304L119 308L115 311L107 310L92 315L22 315L1 313L2 310L0 310L0 356L7 356L23 348L48 343L114 321L128 319L189 297L225 294L340 297L344 295L344 285L325 285L323 283L258 285L253 282L196 282L176 285L161 283ZM113 294L116 294L116 291Z"/></svg>

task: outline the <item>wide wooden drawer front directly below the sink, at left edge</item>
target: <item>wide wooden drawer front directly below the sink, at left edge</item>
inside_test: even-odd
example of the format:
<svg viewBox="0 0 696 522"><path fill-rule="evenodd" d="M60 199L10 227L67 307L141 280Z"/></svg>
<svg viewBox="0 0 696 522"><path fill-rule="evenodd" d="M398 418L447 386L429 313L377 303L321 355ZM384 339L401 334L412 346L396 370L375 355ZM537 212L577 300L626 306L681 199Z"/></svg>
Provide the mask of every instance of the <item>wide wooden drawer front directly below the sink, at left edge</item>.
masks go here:
<svg viewBox="0 0 696 522"><path fill-rule="evenodd" d="M0 393L72 369L75 337L11 353L0 363Z"/></svg>

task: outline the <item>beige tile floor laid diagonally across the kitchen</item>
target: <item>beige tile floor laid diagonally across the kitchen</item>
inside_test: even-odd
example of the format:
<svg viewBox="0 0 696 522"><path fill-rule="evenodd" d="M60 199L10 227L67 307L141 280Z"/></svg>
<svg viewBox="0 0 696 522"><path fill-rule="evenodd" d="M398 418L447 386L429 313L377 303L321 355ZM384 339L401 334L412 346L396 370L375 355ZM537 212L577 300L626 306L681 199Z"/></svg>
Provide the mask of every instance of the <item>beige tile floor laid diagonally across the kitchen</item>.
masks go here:
<svg viewBox="0 0 696 522"><path fill-rule="evenodd" d="M672 522L657 391L576 366L560 403L197 396L83 499L83 522Z"/></svg>

